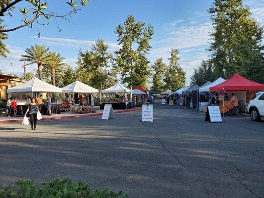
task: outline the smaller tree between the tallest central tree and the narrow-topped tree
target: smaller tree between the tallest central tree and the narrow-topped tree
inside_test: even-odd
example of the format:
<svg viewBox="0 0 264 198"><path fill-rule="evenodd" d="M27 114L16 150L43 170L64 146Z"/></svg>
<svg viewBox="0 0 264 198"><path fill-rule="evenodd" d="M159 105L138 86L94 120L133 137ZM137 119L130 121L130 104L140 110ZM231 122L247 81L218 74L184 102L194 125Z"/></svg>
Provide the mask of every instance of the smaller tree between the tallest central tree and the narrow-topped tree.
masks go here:
<svg viewBox="0 0 264 198"><path fill-rule="evenodd" d="M163 63L162 58L158 58L154 64L151 66L153 70L153 79L152 79L152 90L159 92L164 91L164 75L167 68L167 65Z"/></svg>

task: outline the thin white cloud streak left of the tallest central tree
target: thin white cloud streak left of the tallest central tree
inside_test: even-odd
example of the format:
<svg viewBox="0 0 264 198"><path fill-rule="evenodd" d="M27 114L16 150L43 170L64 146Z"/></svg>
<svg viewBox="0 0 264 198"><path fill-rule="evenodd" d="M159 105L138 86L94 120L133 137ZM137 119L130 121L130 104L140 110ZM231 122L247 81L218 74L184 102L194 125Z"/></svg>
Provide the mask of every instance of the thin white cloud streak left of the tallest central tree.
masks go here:
<svg viewBox="0 0 264 198"><path fill-rule="evenodd" d="M76 48L88 48L92 46L92 43L95 43L96 41L90 41L90 40L76 40L76 39L65 39L65 38L53 38L53 37L32 37L35 39L40 39L44 43L47 43L49 45L53 46L72 46ZM109 48L116 49L118 45L116 43L112 42L105 42Z"/></svg>

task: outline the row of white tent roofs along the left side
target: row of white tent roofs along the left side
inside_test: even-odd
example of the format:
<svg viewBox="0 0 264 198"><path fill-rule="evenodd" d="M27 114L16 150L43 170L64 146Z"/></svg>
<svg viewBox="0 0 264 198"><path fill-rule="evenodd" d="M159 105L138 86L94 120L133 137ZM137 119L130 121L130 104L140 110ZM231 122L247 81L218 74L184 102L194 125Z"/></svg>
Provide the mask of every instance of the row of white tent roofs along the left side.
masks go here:
<svg viewBox="0 0 264 198"><path fill-rule="evenodd" d="M25 93L25 92L52 92L52 93L99 93L98 89L90 87L79 81L75 81L66 87L58 88L53 85L50 85L38 78L33 78L21 85L7 89L7 93ZM119 82L114 86L102 90L102 93L132 93L132 94L146 94L141 90L130 90L124 87Z"/></svg>

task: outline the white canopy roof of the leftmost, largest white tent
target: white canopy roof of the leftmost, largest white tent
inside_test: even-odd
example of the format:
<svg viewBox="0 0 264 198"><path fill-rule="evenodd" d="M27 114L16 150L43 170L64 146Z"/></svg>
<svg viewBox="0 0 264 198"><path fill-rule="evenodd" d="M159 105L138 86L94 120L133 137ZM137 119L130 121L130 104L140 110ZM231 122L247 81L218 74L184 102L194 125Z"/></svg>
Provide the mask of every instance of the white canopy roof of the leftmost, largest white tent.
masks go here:
<svg viewBox="0 0 264 198"><path fill-rule="evenodd" d="M19 93L19 92L53 92L61 93L61 89L45 83L44 81L33 78L29 81L22 83L21 85L7 89L7 93Z"/></svg>

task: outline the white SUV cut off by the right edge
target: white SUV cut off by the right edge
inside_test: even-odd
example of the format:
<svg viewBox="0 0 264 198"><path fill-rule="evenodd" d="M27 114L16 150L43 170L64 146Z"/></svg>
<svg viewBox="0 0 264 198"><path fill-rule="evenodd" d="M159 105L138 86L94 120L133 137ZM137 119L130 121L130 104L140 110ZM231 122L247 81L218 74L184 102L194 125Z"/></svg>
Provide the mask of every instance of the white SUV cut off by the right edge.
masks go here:
<svg viewBox="0 0 264 198"><path fill-rule="evenodd" d="M249 101L248 111L253 121L260 121L264 117L264 91L258 92Z"/></svg>

